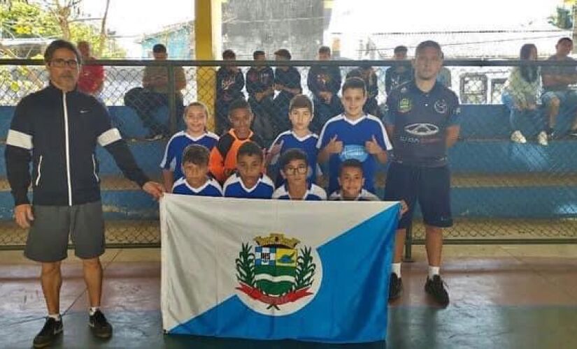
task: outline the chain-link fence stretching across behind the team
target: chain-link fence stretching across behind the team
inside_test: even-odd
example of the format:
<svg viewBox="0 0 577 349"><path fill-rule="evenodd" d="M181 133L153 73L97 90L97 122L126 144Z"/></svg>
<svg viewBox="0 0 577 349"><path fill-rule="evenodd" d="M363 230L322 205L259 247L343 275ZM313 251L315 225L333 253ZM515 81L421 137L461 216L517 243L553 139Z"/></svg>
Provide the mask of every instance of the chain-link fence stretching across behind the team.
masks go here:
<svg viewBox="0 0 577 349"><path fill-rule="evenodd" d="M245 98L255 114L253 130L269 145L278 133L290 128L288 103L294 94L313 99L311 128L319 133L327 119L342 112L339 94L346 77L365 80L369 99L364 109L382 118L387 91L413 74L409 61L262 61L258 68L254 61L235 61L234 66L229 61L97 63L104 65L105 80L96 96L153 178L160 177L158 164L167 140L185 128L182 114L188 103L208 105L208 128L222 134L229 127L228 105L235 98ZM538 137L548 131L548 114L536 96L536 109L520 116L528 124L527 131L520 130L525 142L513 142L513 131L518 130L513 129L511 111L501 98L511 69L520 63L448 60L439 75L439 82L453 89L462 103L460 140L449 153L455 226L445 232L448 243L577 241L577 138L571 136L577 128L577 99L574 105L562 105L555 133L544 146ZM571 62L562 65L575 68ZM39 61L0 61L0 138L6 138L18 101L43 88L47 80ZM122 207L108 205L116 214L107 221L108 244L159 244L155 207L143 209L136 186L121 179L106 154L99 159L103 192L117 195L115 200L122 202ZM0 195L9 198L3 165L0 176ZM385 178L383 167L376 176L381 197ZM10 200L3 202L9 206ZM8 222L10 207L3 210L0 245L21 246L25 233ZM409 243L423 239L417 214Z"/></svg>

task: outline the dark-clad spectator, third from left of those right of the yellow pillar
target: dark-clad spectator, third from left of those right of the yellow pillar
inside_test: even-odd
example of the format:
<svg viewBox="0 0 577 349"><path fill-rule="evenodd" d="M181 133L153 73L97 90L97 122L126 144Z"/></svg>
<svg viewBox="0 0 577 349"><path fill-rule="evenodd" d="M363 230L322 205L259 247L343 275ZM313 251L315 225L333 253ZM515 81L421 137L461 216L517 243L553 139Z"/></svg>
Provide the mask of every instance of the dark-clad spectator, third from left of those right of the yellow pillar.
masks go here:
<svg viewBox="0 0 577 349"><path fill-rule="evenodd" d="M287 114L289 113L290 100L302 93L301 73L294 66L285 66L282 61L290 61L290 52L280 49L274 52L276 61L279 61L274 75L274 89L278 95L274 98L275 113L273 114L273 126L275 136L281 131L290 128Z"/></svg>

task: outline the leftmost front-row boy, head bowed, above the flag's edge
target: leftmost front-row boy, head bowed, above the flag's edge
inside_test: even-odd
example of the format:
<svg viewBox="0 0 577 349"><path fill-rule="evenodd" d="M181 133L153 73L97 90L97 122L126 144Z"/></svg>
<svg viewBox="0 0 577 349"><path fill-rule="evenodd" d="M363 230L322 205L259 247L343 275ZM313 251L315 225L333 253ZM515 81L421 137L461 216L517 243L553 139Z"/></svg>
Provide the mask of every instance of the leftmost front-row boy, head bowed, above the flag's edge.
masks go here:
<svg viewBox="0 0 577 349"><path fill-rule="evenodd" d="M190 144L183 153L182 171L172 187L172 193L199 196L222 196L222 188L215 179L208 177L210 151L200 144Z"/></svg>

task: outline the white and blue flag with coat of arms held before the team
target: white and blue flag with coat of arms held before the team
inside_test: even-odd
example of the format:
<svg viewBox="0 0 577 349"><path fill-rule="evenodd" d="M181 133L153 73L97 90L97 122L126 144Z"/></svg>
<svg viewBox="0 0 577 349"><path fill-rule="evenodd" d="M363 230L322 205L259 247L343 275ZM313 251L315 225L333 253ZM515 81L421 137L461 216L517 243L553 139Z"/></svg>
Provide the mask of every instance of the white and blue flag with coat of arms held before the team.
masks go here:
<svg viewBox="0 0 577 349"><path fill-rule="evenodd" d="M399 205L166 194L169 334L380 341Z"/></svg>

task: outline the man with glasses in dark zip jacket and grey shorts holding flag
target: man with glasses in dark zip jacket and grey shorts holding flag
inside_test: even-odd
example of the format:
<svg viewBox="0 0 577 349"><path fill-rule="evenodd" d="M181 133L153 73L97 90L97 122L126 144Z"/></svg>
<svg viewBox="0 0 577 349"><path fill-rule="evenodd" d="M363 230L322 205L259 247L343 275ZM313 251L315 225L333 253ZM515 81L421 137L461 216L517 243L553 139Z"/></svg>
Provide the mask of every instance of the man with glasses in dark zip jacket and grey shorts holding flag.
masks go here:
<svg viewBox="0 0 577 349"><path fill-rule="evenodd" d="M15 200L15 221L22 228L30 228L24 255L42 264L48 318L34 338L35 348L50 346L63 330L59 314L60 262L66 258L69 235L76 256L83 260L90 298L89 326L100 338L112 335L112 326L99 310L104 219L94 155L97 143L144 191L155 198L163 191L138 168L119 131L111 126L104 105L76 89L80 70L76 47L55 40L46 49L44 59L50 85L22 98L6 139L6 170ZM27 196L30 184L34 206Z"/></svg>

